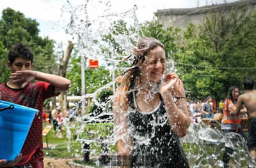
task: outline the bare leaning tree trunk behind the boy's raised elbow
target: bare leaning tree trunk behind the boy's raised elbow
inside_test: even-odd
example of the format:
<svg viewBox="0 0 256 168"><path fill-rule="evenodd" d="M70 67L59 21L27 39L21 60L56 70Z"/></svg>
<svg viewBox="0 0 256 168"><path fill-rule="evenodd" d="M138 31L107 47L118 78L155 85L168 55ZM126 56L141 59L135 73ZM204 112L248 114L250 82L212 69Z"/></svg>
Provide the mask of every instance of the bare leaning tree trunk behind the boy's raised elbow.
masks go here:
<svg viewBox="0 0 256 168"><path fill-rule="evenodd" d="M74 48L74 45L72 44L72 41L68 41L67 49L63 57L61 58L58 75L64 78L66 77L68 60L70 59L70 55L72 53L73 48ZM67 92L62 92L59 95L59 103L60 103L61 112L63 113L63 117L65 117L66 111L67 111Z"/></svg>

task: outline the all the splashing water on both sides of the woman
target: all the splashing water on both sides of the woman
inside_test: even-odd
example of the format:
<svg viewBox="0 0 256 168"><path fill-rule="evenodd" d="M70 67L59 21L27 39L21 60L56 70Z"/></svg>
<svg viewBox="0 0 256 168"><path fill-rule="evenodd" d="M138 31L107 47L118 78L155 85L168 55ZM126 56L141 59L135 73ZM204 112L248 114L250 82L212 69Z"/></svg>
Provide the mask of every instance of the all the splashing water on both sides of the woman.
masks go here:
<svg viewBox="0 0 256 168"><path fill-rule="evenodd" d="M122 129L116 128L113 123L113 95L109 94L105 98L102 95L103 98L100 99L99 94L102 91L109 90L110 87L113 87L115 92L115 74L120 74L128 69L125 66L120 66L120 64L126 57L132 55L134 42L138 41L140 34L143 34L136 17L136 6L129 11L120 13L114 13L111 7L111 1L89 0L84 1L79 6L70 2L67 6L63 6L63 12L70 15L66 32L77 41L77 49L83 61L92 58L100 60L102 66L111 65L112 67L108 68L112 71L113 81L99 88L93 94L86 94L83 97L87 100L90 99L91 104L94 104L97 108L93 109L91 113L72 116L74 122L68 122L68 120L63 122L67 130L68 151L71 148L76 148L76 153L73 153L76 157L89 151L90 158L97 156L95 163L98 165L102 164L102 160L99 162L102 156L116 155L118 131ZM98 13L98 15L90 15L91 13ZM120 25L120 32L118 33L116 33L116 25ZM132 25L134 29L127 29L129 25ZM111 40L106 37L111 37ZM102 50L105 52L102 52ZM131 61L131 59L127 60L128 64L131 64ZM167 69L177 71L173 62L167 65ZM156 89L156 92L159 92L159 90ZM147 99L152 99L152 97L154 96L148 95ZM86 104L90 105L89 102ZM80 104L77 105L76 110L79 110L80 106ZM163 122L152 124L164 125ZM152 130L152 132L154 131ZM152 134L147 134L145 137L136 135L136 137L140 139L141 143L148 144ZM125 139L127 136L125 135L122 138ZM195 129L191 124L188 135L183 137L181 141L190 167L222 167L221 160L225 146L235 150L232 157L235 158L236 166L239 167L241 162L255 165L250 155L247 155L248 148L244 139L236 133L224 135L221 130L212 129L207 125L202 124L198 129ZM80 145L77 147L77 144Z"/></svg>

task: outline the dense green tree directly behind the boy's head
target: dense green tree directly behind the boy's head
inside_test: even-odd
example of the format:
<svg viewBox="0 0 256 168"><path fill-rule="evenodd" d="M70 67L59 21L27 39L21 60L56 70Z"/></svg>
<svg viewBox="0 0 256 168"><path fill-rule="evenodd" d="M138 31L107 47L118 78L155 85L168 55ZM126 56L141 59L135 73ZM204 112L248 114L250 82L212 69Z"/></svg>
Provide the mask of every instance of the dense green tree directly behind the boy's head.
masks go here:
<svg viewBox="0 0 256 168"><path fill-rule="evenodd" d="M7 54L16 43L26 43L34 53L34 70L46 71L45 67L51 64L55 55L53 54L54 41L52 39L38 36L38 22L26 18L20 11L6 8L0 19L0 80L8 81L10 71L6 66Z"/></svg>

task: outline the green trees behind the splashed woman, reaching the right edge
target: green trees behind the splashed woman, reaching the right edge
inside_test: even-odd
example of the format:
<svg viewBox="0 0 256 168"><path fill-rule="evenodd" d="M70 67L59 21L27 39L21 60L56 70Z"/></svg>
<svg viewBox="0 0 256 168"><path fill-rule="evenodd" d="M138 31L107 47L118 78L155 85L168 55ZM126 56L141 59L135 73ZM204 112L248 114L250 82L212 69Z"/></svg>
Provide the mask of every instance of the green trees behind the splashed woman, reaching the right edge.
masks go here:
<svg viewBox="0 0 256 168"><path fill-rule="evenodd" d="M250 12L247 6L240 6L232 8L228 15L225 10L208 13L202 25L189 24L184 32L179 27L164 27L158 21L145 22L141 24L140 35L153 37L164 43L166 59L170 60L172 57L177 62L178 74L184 81L189 98L204 99L207 95L212 95L214 99L220 100L225 98L228 87L232 85L241 87L246 76L255 76L253 67L256 66L256 32L252 31L255 27L255 13ZM104 41L112 44L114 49L102 48L102 52L109 53L111 57L115 50L115 53L120 55L120 59L128 56L116 43L114 36L132 32L135 32L134 27L128 28L123 21L114 22L111 26L111 34L103 38ZM132 43L135 45L136 41ZM75 95L81 95L79 61L74 60L73 73L70 73L72 80L70 90ZM127 66L129 66L127 62L117 65L117 67ZM104 71L105 69L101 70L86 69L88 93L95 92L97 88L111 81L110 73ZM115 73L120 74L122 71L118 69ZM106 77L106 80L100 79L99 76Z"/></svg>

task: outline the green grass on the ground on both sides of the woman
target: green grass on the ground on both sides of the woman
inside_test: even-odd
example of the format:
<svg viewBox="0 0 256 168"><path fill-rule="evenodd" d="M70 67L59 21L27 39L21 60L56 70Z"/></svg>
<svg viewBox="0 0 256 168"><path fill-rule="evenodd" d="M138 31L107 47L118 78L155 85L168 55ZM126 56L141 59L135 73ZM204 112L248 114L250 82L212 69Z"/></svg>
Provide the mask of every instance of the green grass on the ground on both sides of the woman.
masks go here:
<svg viewBox="0 0 256 168"><path fill-rule="evenodd" d="M75 123L77 124L77 123ZM49 124L48 124L49 125ZM46 127L47 124L44 123L44 127ZM66 137L66 133L63 134L63 138L57 138L53 137L53 129L49 132L47 135L48 143L49 144L56 144L55 148L50 148L48 155L46 155L47 150L44 150L44 155L47 157L53 157L53 158L79 158L83 156L83 153L81 152L83 144L81 144L80 141L76 141L77 138L77 130L76 128L79 128L79 125L76 125L74 129L71 129L72 131L72 138L68 142L68 138ZM84 127L83 131L81 131L79 138L83 139L99 139L99 137L106 138L109 134L112 134L111 130L113 128L113 123L90 123L87 124L86 127ZM43 142L46 142L45 136L43 136ZM68 145L69 144L69 145ZM211 144L182 144L182 148L187 156L196 156L195 157L195 164L200 163L201 165L205 165L206 167L209 167L209 156L214 154L216 148L214 145ZM68 147L70 150L68 150ZM90 144L90 151L93 151L93 154L100 155L101 147L99 143L92 143ZM117 151L117 145L109 146L109 151L115 153ZM221 152L220 155L217 156L216 160L222 160L223 152ZM241 157L243 157L243 153L241 154ZM75 160L77 164L84 164L83 160L78 159ZM92 167L97 167L95 163L92 161L85 164L90 165ZM204 167L204 166L203 166ZM246 167L245 160L241 161L241 167Z"/></svg>

